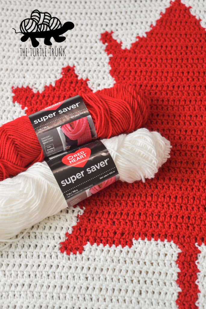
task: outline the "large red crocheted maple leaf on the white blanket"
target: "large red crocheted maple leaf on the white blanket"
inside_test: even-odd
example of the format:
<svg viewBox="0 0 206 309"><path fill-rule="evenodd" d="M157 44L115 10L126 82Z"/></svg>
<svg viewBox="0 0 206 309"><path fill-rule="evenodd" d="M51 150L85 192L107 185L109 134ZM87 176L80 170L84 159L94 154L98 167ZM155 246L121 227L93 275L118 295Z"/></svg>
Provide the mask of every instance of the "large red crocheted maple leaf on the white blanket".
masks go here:
<svg viewBox="0 0 206 309"><path fill-rule="evenodd" d="M146 37L122 49L112 33L101 37L110 57L110 74L116 82L133 83L152 98L146 127L171 141L171 158L153 180L145 184L117 182L79 205L84 214L62 243L61 251L82 252L90 244L132 246L132 240L152 237L179 246L177 283L179 308L196 308L199 250L206 244L204 117L206 32L189 9L175 1ZM13 89L14 101L35 112L88 90L74 69L64 69L55 87L33 93L28 87Z"/></svg>

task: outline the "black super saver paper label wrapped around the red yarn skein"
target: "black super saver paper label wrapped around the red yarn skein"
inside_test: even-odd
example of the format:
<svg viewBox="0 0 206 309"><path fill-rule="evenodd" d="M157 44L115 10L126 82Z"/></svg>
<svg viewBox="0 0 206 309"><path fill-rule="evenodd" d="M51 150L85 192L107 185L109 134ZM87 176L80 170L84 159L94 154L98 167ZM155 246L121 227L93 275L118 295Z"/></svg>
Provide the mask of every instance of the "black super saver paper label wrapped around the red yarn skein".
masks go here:
<svg viewBox="0 0 206 309"><path fill-rule="evenodd" d="M29 115L44 158L97 138L86 105L79 95Z"/></svg>

